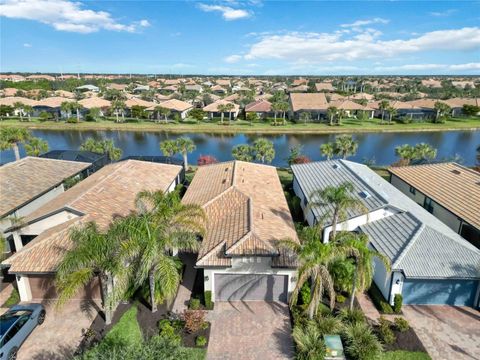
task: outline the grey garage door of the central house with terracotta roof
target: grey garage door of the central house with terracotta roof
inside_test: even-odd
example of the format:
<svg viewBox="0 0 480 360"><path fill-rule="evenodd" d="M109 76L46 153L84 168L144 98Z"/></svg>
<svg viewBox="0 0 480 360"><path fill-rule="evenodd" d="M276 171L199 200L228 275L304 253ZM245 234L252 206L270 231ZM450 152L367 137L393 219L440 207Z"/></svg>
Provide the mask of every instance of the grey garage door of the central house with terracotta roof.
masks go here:
<svg viewBox="0 0 480 360"><path fill-rule="evenodd" d="M215 274L215 301L287 302L288 276Z"/></svg>

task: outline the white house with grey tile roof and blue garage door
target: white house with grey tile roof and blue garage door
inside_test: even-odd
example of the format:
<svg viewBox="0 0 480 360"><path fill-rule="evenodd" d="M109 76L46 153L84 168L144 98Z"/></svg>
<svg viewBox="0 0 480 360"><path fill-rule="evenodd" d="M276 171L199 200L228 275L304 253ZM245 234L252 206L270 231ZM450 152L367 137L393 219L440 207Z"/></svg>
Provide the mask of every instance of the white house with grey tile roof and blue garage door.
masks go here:
<svg viewBox="0 0 480 360"><path fill-rule="evenodd" d="M387 256L391 271L374 261L374 282L393 304L479 306L480 250L365 165L330 160L292 165L293 188L310 226L324 241L332 230L332 206L309 206L312 193L344 182L353 185L366 214L347 211L338 231L363 232L370 246Z"/></svg>

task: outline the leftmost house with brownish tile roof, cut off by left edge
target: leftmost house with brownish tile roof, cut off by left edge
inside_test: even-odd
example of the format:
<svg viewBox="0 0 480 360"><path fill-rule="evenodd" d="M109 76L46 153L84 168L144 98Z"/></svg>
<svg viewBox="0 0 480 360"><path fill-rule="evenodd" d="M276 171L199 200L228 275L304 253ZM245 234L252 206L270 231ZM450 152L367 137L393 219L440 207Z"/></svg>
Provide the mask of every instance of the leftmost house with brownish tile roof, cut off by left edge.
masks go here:
<svg viewBox="0 0 480 360"><path fill-rule="evenodd" d="M27 156L0 167L0 234L7 239L7 252L18 251L24 243L5 231L62 194L65 180L81 175L90 166L86 161Z"/></svg>

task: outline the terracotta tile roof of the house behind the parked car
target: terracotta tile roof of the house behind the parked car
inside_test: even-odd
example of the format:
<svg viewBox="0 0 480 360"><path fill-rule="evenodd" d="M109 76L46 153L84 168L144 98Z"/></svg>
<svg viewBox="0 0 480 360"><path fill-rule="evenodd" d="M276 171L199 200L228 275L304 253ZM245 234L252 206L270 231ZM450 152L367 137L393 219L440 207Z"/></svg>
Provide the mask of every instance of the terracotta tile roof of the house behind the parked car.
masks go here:
<svg viewBox="0 0 480 360"><path fill-rule="evenodd" d="M182 167L127 160L103 167L87 179L56 197L30 216L32 221L58 209L74 209L83 216L52 227L8 258L10 272L54 272L71 242L68 232L73 226L95 221L106 230L116 216L125 216L135 210L135 197L142 190L166 191Z"/></svg>

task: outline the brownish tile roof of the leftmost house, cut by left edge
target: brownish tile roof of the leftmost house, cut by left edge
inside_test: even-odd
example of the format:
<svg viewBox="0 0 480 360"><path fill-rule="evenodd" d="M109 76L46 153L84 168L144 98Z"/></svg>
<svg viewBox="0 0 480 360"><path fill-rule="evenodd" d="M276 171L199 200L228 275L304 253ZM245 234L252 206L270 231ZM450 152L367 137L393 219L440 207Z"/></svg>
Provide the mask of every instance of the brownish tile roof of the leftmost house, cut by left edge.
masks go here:
<svg viewBox="0 0 480 360"><path fill-rule="evenodd" d="M90 163L25 157L0 167L0 216L28 203Z"/></svg>

